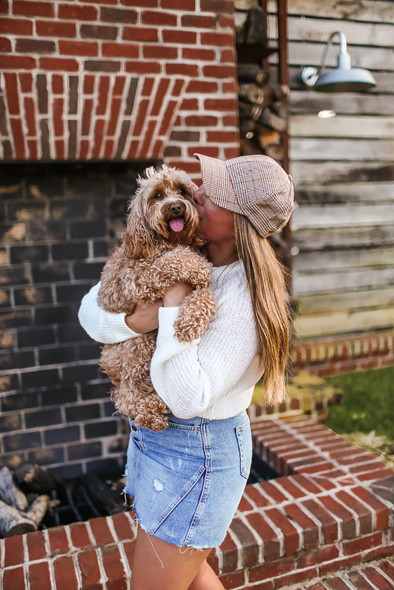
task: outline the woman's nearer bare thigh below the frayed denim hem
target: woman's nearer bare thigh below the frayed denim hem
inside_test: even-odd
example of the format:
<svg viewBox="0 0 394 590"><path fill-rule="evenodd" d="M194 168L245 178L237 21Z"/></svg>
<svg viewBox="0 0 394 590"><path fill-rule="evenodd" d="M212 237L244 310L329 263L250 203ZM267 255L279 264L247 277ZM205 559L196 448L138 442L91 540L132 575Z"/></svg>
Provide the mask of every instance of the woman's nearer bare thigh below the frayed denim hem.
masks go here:
<svg viewBox="0 0 394 590"><path fill-rule="evenodd" d="M187 549L181 552L179 547L149 536L139 527L135 541L131 590L187 590L210 552L211 549ZM216 590L216 586L211 588ZM217 588L221 589L223 586Z"/></svg>

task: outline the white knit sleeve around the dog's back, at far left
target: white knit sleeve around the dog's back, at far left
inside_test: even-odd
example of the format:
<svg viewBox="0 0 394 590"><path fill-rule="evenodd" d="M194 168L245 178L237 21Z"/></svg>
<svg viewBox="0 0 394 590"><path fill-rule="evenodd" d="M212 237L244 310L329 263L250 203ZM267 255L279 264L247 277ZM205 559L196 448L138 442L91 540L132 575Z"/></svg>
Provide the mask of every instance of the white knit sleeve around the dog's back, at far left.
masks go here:
<svg viewBox="0 0 394 590"><path fill-rule="evenodd" d="M125 313L109 313L97 304L100 284L97 283L83 299L78 312L79 323L93 340L115 344L138 336L125 322Z"/></svg>

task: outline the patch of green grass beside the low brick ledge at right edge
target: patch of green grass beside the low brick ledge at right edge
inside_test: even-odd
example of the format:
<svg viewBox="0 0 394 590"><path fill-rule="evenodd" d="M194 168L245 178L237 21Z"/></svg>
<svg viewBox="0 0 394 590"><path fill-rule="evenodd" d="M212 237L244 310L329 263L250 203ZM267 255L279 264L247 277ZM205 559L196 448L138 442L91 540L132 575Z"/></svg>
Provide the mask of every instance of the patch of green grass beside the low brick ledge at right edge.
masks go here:
<svg viewBox="0 0 394 590"><path fill-rule="evenodd" d="M328 428L338 434L374 430L394 440L394 365L324 380L343 392L342 404L328 410Z"/></svg>

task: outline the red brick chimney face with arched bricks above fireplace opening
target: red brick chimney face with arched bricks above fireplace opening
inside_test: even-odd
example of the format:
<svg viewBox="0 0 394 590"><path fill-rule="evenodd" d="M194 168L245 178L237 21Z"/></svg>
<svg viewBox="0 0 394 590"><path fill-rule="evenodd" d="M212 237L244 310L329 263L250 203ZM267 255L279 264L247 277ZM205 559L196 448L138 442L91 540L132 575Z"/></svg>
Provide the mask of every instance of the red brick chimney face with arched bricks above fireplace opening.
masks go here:
<svg viewBox="0 0 394 590"><path fill-rule="evenodd" d="M2 0L4 160L238 155L230 0Z"/></svg>

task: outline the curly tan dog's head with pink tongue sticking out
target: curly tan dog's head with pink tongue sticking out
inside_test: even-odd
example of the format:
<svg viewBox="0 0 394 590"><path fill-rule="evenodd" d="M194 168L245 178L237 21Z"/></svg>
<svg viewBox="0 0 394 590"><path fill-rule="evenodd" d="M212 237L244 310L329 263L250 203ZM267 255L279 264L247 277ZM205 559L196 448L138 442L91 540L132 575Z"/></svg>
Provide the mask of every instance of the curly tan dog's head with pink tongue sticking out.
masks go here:
<svg viewBox="0 0 394 590"><path fill-rule="evenodd" d="M145 178L138 178L138 185L123 234L130 255L147 256L154 242L196 242L198 214L193 193L197 186L187 173L165 165L156 170L147 168ZM203 243L200 238L199 245Z"/></svg>

